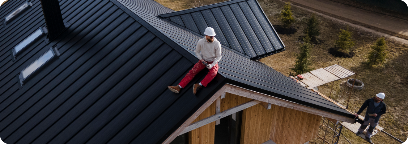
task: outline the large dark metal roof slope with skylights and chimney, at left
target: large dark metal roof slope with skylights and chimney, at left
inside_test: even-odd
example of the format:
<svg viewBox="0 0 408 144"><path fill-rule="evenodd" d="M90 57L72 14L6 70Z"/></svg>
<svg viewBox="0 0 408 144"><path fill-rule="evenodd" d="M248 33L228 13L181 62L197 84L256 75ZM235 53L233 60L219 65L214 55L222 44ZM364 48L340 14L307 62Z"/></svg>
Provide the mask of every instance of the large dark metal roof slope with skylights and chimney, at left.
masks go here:
<svg viewBox="0 0 408 144"><path fill-rule="evenodd" d="M23 2L7 2L0 7L0 17ZM50 42L43 35L14 61L9 50L45 26L40 0L32 0L31 8L0 26L2 141L154 144L224 84L219 75L198 95L193 95L191 85L180 94L168 90L197 58L114 2L60 1L64 22L71 26ZM20 88L16 75L54 45L60 56ZM206 72L191 83L198 83Z"/></svg>

